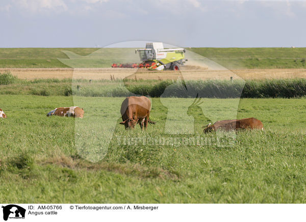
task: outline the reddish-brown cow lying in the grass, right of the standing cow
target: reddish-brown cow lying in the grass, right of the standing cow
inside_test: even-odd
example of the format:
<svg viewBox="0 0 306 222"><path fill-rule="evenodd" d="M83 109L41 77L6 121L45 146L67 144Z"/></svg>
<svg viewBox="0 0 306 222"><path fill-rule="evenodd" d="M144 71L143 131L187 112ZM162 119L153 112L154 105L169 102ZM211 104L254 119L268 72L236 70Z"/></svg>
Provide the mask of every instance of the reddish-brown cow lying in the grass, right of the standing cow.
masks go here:
<svg viewBox="0 0 306 222"><path fill-rule="evenodd" d="M260 120L255 118L246 118L241 120L221 120L215 122L213 125L209 124L203 132L210 132L216 129L236 130L236 129L264 129Z"/></svg>

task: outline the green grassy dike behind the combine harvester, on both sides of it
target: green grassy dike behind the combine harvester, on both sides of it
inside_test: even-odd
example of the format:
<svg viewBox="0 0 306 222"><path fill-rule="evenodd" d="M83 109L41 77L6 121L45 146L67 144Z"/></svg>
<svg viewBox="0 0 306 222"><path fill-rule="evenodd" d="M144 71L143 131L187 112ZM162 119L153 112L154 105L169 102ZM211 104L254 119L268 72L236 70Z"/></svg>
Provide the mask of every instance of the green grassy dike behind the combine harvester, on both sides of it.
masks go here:
<svg viewBox="0 0 306 222"><path fill-rule="evenodd" d="M228 69L306 68L306 48L187 48ZM97 48L0 48L0 68L64 68L58 58L68 59L63 50L87 56ZM116 62L137 62L134 48L99 49L90 67L109 68ZM94 53L93 53L94 55ZM128 55L128 56L122 56ZM103 56L103 60L101 60ZM187 58L188 59L188 58ZM78 67L86 67L83 61Z"/></svg>

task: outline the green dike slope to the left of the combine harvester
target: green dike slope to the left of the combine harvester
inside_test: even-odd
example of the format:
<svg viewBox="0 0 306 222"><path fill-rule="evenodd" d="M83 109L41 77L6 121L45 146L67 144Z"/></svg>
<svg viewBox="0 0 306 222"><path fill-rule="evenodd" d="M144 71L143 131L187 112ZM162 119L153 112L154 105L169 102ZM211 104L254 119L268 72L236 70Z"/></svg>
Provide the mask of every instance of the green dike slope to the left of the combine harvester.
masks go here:
<svg viewBox="0 0 306 222"><path fill-rule="evenodd" d="M98 53L94 52L98 50ZM110 68L115 62L136 62L139 60L134 48L1 48L1 68L69 68L58 59L68 59L64 51L79 56L92 54L90 60L81 59L77 67ZM130 61L124 61L124 54L129 53ZM122 58L123 57L123 58ZM132 57L132 58L131 58ZM101 60L101 58L104 58ZM123 61L122 61L123 60ZM79 64L80 63L80 64ZM90 65L88 65L90 64Z"/></svg>

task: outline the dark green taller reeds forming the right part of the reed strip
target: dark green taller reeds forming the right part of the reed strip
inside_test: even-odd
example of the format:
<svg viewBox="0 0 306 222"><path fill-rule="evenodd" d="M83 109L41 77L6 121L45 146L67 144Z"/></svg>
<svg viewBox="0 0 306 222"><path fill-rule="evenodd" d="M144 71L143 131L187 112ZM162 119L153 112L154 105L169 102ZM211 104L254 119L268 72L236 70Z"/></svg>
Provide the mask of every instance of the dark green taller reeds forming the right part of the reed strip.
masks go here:
<svg viewBox="0 0 306 222"><path fill-rule="evenodd" d="M127 89L139 95L151 97L194 97L205 98L292 98L306 95L306 79L272 79L226 81L186 81L182 83L162 81L157 85L130 85Z"/></svg>

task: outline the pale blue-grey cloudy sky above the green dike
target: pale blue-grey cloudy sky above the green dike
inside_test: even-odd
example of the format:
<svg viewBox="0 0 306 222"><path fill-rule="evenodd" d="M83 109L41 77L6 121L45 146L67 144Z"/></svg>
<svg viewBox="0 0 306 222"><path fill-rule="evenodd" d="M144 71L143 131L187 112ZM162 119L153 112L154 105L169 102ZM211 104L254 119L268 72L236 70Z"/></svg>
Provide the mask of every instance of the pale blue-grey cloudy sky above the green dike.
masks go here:
<svg viewBox="0 0 306 222"><path fill-rule="evenodd" d="M0 22L0 47L306 47L306 1L0 0Z"/></svg>

